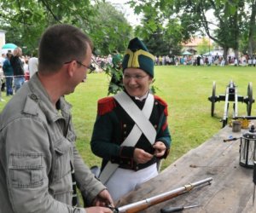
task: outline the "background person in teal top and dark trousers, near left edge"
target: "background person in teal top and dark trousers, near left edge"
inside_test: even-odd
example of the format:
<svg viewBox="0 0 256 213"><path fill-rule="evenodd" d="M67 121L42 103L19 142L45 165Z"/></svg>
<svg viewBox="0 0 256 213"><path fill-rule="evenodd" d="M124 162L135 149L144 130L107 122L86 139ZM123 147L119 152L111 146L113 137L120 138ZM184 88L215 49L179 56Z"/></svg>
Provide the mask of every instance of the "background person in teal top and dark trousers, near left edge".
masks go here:
<svg viewBox="0 0 256 213"><path fill-rule="evenodd" d="M11 53L6 54L6 59L3 61L3 73L5 76L5 83L6 83L6 96L14 95L13 93L13 76L14 76L14 69L10 64L10 59L12 57Z"/></svg>

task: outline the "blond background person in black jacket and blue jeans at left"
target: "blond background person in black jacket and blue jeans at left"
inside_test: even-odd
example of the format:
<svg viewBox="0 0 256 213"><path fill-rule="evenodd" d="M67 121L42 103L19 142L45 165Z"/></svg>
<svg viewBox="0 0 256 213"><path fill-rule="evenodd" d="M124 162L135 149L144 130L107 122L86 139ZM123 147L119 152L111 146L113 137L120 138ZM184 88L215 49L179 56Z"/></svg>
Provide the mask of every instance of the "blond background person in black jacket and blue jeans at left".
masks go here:
<svg viewBox="0 0 256 213"><path fill-rule="evenodd" d="M11 57L10 63L14 69L14 82L15 82L15 93L20 89L21 85L25 82L25 72L20 57L22 56L22 49L19 47L15 48L14 55Z"/></svg>

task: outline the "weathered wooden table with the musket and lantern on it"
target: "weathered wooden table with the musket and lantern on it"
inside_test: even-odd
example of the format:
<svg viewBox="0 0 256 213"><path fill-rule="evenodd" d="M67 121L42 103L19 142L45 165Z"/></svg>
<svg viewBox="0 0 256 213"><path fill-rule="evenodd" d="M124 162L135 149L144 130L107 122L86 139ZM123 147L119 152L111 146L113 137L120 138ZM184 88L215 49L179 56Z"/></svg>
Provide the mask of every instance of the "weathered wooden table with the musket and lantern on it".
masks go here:
<svg viewBox="0 0 256 213"><path fill-rule="evenodd" d="M233 133L226 126L211 139L178 158L159 176L144 183L137 190L120 199L119 206L148 199L191 182L212 177L212 184L198 187L175 199L156 204L142 212L160 212L163 207L200 204L199 207L183 210L191 213L253 213L253 170L239 165L240 140L223 142L232 135L241 137L247 130ZM171 153L172 154L172 153Z"/></svg>

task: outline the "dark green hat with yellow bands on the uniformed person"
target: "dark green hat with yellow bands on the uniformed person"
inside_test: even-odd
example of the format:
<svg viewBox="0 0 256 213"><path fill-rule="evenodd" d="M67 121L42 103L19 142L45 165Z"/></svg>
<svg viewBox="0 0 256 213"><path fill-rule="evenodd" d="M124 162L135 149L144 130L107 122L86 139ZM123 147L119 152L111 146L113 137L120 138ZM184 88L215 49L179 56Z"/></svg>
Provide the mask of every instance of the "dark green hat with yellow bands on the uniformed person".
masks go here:
<svg viewBox="0 0 256 213"><path fill-rule="evenodd" d="M137 37L131 39L122 62L126 68L139 68L154 78L154 55L150 54L146 45Z"/></svg>

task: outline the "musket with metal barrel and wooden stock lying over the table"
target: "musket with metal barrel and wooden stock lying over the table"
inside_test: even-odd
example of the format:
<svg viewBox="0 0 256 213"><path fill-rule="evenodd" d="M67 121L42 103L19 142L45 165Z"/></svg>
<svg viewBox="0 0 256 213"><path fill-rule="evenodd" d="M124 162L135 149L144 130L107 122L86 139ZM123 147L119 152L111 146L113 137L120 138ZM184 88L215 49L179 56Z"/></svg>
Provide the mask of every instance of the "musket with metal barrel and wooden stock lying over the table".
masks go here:
<svg viewBox="0 0 256 213"><path fill-rule="evenodd" d="M178 187L172 191L168 191L166 193L160 193L154 197L151 197L149 199L143 199L141 201L137 201L132 204L126 204L118 208L113 208L113 213L137 213L141 210L146 210L148 207L154 205L154 204L160 204L166 200L173 199L183 193L188 193L193 188L198 187L202 184L207 183L207 185L210 185L212 181L212 177L208 177L201 181L196 181L193 183L189 183L188 185L184 185L183 187Z"/></svg>

